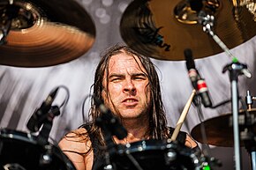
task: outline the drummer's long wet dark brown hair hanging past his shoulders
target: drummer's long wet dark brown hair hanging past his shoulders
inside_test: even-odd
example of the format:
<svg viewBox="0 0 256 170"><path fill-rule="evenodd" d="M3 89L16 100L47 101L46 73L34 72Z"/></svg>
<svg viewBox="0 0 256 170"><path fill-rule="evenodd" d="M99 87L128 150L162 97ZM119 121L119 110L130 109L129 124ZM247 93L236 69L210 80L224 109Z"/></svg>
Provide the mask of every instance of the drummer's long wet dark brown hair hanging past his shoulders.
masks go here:
<svg viewBox="0 0 256 170"><path fill-rule="evenodd" d="M101 61L98 64L94 75L94 85L91 86L91 90L93 89L93 97L91 99L91 108L89 111L91 122L89 122L90 128L87 129L88 134L96 137L99 140L99 144L101 144L102 146L105 145L102 129L99 128L95 123L96 119L99 118L102 113L97 108L94 99L96 98L104 103L102 91L104 89L108 89L108 86L103 86L103 78L107 78L106 82L109 82L109 60L112 55L117 55L120 53L125 53L126 55L131 55L133 57L137 56L142 67L146 70L150 89L150 108L147 109L149 121L149 129L147 135L152 139L163 139L169 137L166 115L162 105L162 95L159 78L154 68L154 64L147 56L140 55L136 51L123 44L116 44L115 46L108 48L106 52L102 53L101 55ZM106 95L109 95L108 91L106 91Z"/></svg>

